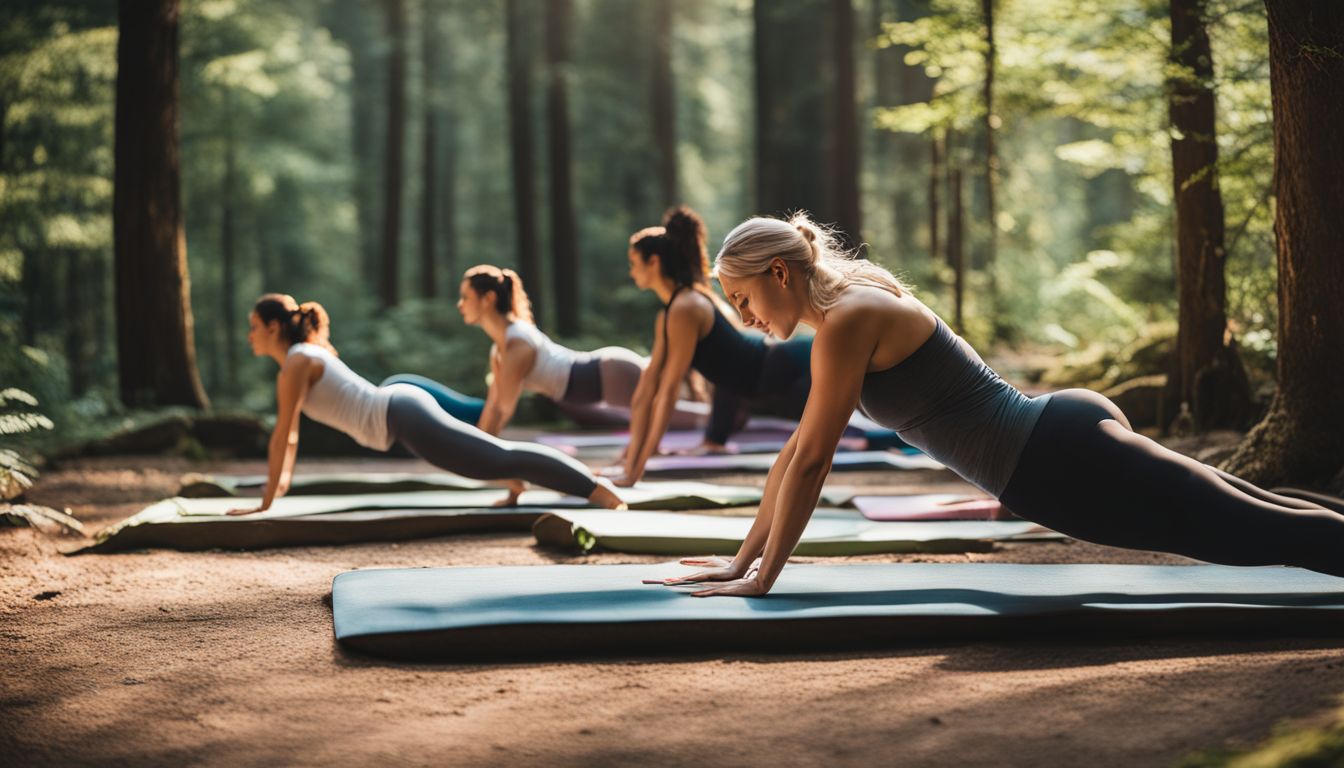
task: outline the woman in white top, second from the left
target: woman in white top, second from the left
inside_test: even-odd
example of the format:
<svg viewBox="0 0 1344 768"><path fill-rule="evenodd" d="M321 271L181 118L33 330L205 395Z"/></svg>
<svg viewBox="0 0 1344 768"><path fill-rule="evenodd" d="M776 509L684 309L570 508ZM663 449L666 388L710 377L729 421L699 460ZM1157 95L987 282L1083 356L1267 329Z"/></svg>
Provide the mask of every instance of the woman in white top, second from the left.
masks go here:
<svg viewBox="0 0 1344 768"><path fill-rule="evenodd" d="M481 328L495 342L491 347L491 385L477 412L477 429L499 434L513 417L524 389L551 398L579 420L591 416L594 408L609 416L613 412L628 413L648 360L625 347L577 352L552 342L532 320L532 303L523 289L523 280L512 269L488 264L468 269L462 276L457 311L462 321ZM426 389L441 405L445 397L453 402L462 398L423 377L401 374L383 382L388 383L414 383ZM453 413L450 406L445 410ZM677 401L673 428L695 429L703 422L702 413Z"/></svg>

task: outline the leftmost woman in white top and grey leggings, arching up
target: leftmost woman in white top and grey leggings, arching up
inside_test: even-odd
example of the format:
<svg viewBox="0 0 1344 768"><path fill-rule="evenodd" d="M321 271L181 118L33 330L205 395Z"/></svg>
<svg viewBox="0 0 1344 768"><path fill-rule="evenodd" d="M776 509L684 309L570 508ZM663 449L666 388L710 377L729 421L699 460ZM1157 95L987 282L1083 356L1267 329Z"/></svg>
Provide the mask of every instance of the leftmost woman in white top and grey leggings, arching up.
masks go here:
<svg viewBox="0 0 1344 768"><path fill-rule="evenodd" d="M360 378L336 356L327 311L316 301L298 305L290 296L267 293L257 300L247 323L253 354L280 363L278 414L261 506L233 514L265 511L289 490L300 413L368 448L387 451L401 443L430 464L466 477L523 479L602 507L625 506L583 464L558 451L492 437L445 413L422 389L405 383L375 387ZM520 483L512 483L504 503L515 503L520 491Z"/></svg>

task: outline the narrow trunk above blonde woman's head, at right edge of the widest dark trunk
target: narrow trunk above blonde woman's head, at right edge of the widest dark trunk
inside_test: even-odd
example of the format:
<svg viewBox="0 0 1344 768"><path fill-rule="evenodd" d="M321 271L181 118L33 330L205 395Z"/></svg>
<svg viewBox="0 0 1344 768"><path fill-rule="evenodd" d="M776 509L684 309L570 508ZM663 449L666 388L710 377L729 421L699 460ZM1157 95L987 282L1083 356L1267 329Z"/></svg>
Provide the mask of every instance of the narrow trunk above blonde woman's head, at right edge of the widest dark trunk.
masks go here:
<svg viewBox="0 0 1344 768"><path fill-rule="evenodd" d="M835 83L831 89L831 200L836 225L847 246L863 242L863 215L859 207L859 116L853 63L853 1L831 0L832 61Z"/></svg>

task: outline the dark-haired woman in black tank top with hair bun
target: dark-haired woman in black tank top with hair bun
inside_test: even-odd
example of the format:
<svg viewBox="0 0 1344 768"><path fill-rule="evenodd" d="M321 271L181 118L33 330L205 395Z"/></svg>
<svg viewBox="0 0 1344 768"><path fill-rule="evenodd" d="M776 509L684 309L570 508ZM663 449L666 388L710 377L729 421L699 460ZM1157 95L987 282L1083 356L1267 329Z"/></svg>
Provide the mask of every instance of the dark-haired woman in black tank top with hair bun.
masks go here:
<svg viewBox="0 0 1344 768"><path fill-rule="evenodd" d="M745 401L797 418L808 399L810 339L771 343L745 332L710 288L707 233L687 207L668 211L663 226L630 237L630 278L663 301L653 323L653 356L630 404L630 444L617 468L617 486L632 486L659 448L689 369L714 385L704 449L722 452Z"/></svg>

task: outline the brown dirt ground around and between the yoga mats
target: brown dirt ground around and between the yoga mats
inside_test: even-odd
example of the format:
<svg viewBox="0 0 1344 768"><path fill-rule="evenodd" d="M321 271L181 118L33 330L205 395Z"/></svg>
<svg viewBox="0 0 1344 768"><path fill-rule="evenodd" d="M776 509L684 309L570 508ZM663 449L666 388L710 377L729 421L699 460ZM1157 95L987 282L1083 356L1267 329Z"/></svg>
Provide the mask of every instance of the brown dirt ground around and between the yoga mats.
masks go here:
<svg viewBox="0 0 1344 768"><path fill-rule="evenodd" d="M93 531L202 469L262 465L83 460L44 475L30 499L71 507ZM833 483L965 490L941 472ZM391 663L336 646L325 599L337 573L664 558L571 557L526 534L60 554L77 542L0 529L0 765L1167 765L1321 717L1344 693L1344 647L1292 638ZM1078 542L851 560L1185 562Z"/></svg>

